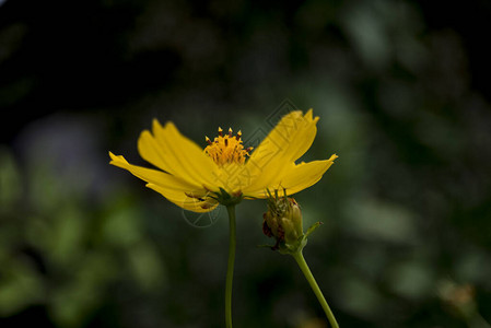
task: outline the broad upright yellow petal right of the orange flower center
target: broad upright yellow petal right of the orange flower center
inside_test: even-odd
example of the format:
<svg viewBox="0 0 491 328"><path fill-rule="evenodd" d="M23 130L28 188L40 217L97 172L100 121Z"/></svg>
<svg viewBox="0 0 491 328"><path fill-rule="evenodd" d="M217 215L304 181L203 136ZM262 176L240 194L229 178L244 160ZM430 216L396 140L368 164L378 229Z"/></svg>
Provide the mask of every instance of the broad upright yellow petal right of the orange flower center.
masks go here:
<svg viewBox="0 0 491 328"><path fill-rule="evenodd" d="M282 176L312 145L317 121L312 109L305 115L301 110L285 115L247 161L244 167L249 177L247 189L260 189Z"/></svg>

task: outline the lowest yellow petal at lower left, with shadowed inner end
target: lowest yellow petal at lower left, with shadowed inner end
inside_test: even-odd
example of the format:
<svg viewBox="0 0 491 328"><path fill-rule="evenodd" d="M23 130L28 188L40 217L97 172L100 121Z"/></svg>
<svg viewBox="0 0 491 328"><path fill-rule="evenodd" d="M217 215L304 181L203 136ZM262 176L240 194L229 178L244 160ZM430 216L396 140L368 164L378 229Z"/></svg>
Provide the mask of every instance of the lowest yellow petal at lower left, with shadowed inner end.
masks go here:
<svg viewBox="0 0 491 328"><path fill-rule="evenodd" d="M186 194L176 192L173 189L154 184L147 184L147 187L155 190L156 192L164 196L167 200L188 211L198 213L210 212L219 206L219 202L217 200L209 197L204 197L204 199L188 197Z"/></svg>

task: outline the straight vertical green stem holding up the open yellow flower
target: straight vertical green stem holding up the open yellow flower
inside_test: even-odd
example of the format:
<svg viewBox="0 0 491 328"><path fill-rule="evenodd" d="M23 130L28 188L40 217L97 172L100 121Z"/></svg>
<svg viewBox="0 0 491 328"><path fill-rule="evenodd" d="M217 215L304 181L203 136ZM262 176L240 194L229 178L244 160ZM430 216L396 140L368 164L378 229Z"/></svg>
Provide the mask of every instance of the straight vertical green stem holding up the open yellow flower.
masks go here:
<svg viewBox="0 0 491 328"><path fill-rule="evenodd" d="M226 207L230 221L229 237L229 265L226 266L226 283L225 283L225 325L232 328L232 282L234 278L235 262L235 204Z"/></svg>

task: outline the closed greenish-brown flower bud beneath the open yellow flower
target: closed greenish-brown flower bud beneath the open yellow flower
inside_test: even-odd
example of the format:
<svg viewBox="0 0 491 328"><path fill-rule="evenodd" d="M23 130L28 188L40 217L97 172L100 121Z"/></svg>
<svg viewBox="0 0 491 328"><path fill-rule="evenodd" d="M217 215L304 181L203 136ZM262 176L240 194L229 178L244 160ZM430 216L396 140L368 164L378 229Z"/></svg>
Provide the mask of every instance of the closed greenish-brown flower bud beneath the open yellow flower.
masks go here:
<svg viewBox="0 0 491 328"><path fill-rule="evenodd" d="M295 244L303 236L302 212L296 201L287 197L269 195L268 212L264 214L262 232L268 237L274 236L278 245L284 242L287 245Z"/></svg>

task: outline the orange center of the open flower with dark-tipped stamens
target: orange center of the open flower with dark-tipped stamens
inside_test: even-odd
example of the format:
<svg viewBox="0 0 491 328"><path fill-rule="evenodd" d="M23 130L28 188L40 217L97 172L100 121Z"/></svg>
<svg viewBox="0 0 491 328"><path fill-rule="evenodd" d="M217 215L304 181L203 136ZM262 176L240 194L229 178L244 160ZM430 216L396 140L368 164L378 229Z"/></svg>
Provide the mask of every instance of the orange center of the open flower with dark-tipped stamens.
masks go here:
<svg viewBox="0 0 491 328"><path fill-rule="evenodd" d="M230 163L244 164L253 148L244 149L241 137L241 131L236 136L232 136L231 128L229 128L229 133L223 136L222 128L219 128L219 137L215 137L213 141L206 137L208 145L204 148L204 153L220 166Z"/></svg>

